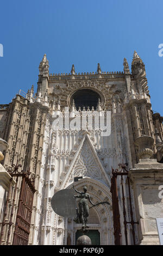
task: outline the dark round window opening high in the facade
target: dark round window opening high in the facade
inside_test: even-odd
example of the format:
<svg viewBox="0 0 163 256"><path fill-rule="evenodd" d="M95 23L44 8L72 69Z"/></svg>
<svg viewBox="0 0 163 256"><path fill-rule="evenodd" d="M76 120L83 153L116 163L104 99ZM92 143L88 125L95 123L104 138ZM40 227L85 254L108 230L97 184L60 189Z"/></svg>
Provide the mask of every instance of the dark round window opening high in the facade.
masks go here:
<svg viewBox="0 0 163 256"><path fill-rule="evenodd" d="M74 100L77 110L79 109L79 107L82 109L83 107L85 107L85 109L87 109L87 107L94 107L94 109L96 110L98 99L100 99L101 101L101 97L98 93L90 89L82 89L78 90L72 95L71 104Z"/></svg>

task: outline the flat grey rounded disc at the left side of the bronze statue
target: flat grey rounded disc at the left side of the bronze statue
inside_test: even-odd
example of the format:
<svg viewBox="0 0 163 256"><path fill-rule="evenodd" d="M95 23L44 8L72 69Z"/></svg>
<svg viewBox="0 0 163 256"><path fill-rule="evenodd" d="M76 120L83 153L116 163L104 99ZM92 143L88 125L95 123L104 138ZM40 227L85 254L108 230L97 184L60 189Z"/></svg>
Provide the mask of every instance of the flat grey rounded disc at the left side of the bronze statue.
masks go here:
<svg viewBox="0 0 163 256"><path fill-rule="evenodd" d="M55 214L62 217L76 216L76 198L74 190L60 190L54 194L51 200L52 209Z"/></svg>

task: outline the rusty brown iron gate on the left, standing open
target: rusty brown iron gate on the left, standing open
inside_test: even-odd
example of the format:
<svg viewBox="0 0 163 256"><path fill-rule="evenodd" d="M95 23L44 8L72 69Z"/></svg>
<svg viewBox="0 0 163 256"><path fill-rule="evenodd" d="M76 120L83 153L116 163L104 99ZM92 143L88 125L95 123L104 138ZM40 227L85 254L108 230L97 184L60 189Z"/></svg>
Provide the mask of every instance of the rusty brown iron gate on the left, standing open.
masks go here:
<svg viewBox="0 0 163 256"><path fill-rule="evenodd" d="M17 182L18 179L22 179L21 181L21 189L20 189L20 196L18 199L18 208L17 208L17 214L16 214L16 222L15 222L15 230L14 230L14 237L12 240L12 245L28 245L29 240L29 232L30 232L30 222L32 217L32 208L33 208L33 198L35 193L35 187L34 187L34 175L30 173L30 170L24 171L18 171L18 168L21 167L21 164L13 164L12 169L9 169L8 172L11 175L11 177L16 177L16 185L14 190L14 195L12 196L12 199L10 198L11 194L11 186L9 187L9 192L7 196L7 200L5 203L5 210L3 215L3 222L2 229L1 229L1 237L0 237L0 244L2 243L2 237L4 235L4 227L5 225L9 225L9 228L7 230L7 240L6 244L9 243L9 237L11 233L11 226L14 224L12 222L12 217L14 214L14 204L15 204L15 197L16 197L16 190L17 190ZM9 208L9 202L11 206L10 216L8 216L8 222L5 221L5 218L7 217L7 212Z"/></svg>

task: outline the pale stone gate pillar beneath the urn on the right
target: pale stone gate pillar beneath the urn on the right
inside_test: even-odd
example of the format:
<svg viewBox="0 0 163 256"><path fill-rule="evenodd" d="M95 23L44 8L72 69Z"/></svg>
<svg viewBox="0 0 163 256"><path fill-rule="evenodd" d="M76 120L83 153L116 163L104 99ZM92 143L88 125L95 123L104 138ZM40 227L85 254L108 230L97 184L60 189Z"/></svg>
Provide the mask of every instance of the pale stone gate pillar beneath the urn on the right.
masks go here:
<svg viewBox="0 0 163 256"><path fill-rule="evenodd" d="M156 159L140 159L135 168L129 170L134 190L138 244L159 245L155 218L163 217L163 164ZM162 198L161 198L162 197Z"/></svg>

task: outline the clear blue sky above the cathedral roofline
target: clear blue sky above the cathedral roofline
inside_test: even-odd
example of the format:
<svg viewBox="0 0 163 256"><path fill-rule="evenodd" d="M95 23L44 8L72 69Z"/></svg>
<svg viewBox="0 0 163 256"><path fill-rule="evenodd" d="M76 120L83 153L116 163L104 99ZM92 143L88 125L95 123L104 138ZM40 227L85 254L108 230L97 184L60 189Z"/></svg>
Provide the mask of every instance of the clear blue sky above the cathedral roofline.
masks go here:
<svg viewBox="0 0 163 256"><path fill-rule="evenodd" d="M0 104L34 84L43 54L49 72L123 71L134 50L146 65L152 109L163 115L162 0L1 1Z"/></svg>

